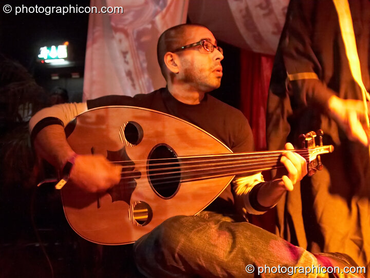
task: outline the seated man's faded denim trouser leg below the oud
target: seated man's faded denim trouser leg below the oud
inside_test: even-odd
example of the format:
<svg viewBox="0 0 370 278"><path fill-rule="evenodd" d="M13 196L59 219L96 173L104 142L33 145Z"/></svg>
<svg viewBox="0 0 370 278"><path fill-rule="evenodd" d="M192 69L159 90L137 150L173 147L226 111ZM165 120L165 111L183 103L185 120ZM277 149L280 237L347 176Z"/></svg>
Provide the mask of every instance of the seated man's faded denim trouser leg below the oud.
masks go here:
<svg viewBox="0 0 370 278"><path fill-rule="evenodd" d="M134 256L138 269L148 277L257 277L257 268L265 265L288 268L318 264L313 254L255 225L207 211L164 221L135 242ZM248 265L255 271L248 273Z"/></svg>

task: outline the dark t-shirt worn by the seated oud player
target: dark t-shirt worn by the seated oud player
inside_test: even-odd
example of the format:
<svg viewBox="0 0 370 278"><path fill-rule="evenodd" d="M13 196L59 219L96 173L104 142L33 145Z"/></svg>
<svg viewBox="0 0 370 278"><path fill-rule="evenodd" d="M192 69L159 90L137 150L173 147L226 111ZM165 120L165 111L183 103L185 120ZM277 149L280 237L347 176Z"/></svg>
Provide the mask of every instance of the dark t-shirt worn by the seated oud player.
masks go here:
<svg viewBox="0 0 370 278"><path fill-rule="evenodd" d="M142 107L167 113L204 129L233 152L254 150L252 131L243 113L209 94L206 94L197 105L178 101L167 88L134 97L109 95L87 100L88 109L114 105ZM223 213L230 212L233 207L230 186L220 195L220 198L217 198L208 209Z"/></svg>

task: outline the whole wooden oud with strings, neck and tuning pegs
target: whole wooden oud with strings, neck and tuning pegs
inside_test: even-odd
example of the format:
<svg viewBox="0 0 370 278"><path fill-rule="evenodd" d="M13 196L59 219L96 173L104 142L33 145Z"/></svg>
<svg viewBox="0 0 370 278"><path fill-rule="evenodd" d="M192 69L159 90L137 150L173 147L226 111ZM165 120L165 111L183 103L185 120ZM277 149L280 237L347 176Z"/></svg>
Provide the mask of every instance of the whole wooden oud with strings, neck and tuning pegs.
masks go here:
<svg viewBox="0 0 370 278"><path fill-rule="evenodd" d="M122 168L121 181L105 193L87 193L69 181L62 189L68 223L80 236L106 245L134 242L175 215L196 215L236 175L283 167L282 152L233 153L206 131L158 111L109 106L78 115L65 128L78 154L102 154ZM320 168L332 146L294 150Z"/></svg>

